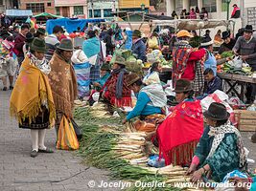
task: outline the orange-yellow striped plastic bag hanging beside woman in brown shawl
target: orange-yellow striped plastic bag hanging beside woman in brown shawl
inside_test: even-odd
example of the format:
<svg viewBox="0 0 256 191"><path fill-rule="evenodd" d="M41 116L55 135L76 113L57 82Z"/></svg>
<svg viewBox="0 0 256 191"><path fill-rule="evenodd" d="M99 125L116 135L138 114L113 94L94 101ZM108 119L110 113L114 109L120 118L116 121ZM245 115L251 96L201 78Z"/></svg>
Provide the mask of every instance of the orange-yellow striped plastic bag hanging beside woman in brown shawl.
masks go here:
<svg viewBox="0 0 256 191"><path fill-rule="evenodd" d="M79 147L79 140L76 136L72 122L63 116L58 128L57 149L77 150Z"/></svg>

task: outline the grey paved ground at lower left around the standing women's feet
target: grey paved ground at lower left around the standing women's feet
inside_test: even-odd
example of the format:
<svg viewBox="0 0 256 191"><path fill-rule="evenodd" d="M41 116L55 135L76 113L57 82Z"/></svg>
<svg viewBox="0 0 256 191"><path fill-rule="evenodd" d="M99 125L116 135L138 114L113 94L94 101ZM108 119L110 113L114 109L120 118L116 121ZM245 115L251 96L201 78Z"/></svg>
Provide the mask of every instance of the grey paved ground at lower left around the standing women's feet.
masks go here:
<svg viewBox="0 0 256 191"><path fill-rule="evenodd" d="M0 190L103 190L97 185L102 180L109 182L107 173L93 167L87 169L75 152L57 150L54 154L39 154L35 159L30 157L30 130L19 129L10 117L10 96L11 91L3 92L0 87ZM54 129L47 131L45 142L55 148Z"/></svg>

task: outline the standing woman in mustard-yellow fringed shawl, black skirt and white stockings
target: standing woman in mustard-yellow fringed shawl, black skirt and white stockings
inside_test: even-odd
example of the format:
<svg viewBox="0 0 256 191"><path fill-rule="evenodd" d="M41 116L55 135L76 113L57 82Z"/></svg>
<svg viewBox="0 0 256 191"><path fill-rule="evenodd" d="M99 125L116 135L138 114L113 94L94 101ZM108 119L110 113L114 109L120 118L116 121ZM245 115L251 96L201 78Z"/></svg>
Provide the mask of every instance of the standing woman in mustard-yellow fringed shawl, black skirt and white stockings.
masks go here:
<svg viewBox="0 0 256 191"><path fill-rule="evenodd" d="M37 152L53 153L44 145L46 129L54 125L56 117L47 77L51 69L44 57L45 51L44 40L35 38L21 65L11 96L11 116L18 119L20 128L31 129L33 158Z"/></svg>

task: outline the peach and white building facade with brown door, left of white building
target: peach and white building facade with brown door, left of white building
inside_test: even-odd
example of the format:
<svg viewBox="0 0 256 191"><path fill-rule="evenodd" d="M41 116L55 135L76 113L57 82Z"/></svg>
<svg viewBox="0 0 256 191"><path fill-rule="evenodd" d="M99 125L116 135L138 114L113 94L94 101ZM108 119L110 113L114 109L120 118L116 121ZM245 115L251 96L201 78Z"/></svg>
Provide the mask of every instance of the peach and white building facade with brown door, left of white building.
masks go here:
<svg viewBox="0 0 256 191"><path fill-rule="evenodd" d="M87 18L87 0L55 0L57 15Z"/></svg>

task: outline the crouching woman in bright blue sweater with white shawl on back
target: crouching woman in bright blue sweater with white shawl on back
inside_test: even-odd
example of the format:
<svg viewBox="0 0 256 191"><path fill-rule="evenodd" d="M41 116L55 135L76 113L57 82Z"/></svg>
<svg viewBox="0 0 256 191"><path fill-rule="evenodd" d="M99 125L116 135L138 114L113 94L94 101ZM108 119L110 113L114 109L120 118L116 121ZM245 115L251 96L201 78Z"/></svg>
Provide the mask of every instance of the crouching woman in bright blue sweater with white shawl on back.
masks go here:
<svg viewBox="0 0 256 191"><path fill-rule="evenodd" d="M155 121L163 119L165 115L162 108L167 105L167 97L159 83L143 87L142 80L137 74L128 74L128 88L134 94L138 94L138 99L134 109L128 114L128 117L123 121L126 123L133 117L140 117L134 123L137 131L154 132Z"/></svg>

